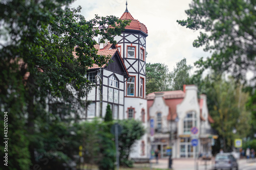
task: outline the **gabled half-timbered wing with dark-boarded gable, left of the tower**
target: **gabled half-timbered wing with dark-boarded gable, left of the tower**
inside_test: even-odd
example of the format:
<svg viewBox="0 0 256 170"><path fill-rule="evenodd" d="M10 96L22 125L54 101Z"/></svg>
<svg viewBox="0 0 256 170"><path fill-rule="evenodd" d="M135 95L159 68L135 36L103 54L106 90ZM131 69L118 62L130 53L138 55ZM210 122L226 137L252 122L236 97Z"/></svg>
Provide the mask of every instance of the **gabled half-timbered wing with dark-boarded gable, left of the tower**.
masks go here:
<svg viewBox="0 0 256 170"><path fill-rule="evenodd" d="M129 73L116 45L106 42L95 45L95 48L98 55L111 56L111 62L101 67L94 64L89 68L87 78L96 86L86 97L87 101L92 101L86 110L86 119L104 117L108 104L113 118L123 119L125 80L129 78Z"/></svg>

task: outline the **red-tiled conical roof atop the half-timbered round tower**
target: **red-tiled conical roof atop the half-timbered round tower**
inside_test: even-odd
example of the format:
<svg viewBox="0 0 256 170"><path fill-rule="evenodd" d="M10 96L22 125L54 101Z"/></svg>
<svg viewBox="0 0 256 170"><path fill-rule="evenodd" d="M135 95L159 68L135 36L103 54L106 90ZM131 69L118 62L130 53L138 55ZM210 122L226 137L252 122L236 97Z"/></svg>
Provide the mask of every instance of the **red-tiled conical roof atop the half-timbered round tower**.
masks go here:
<svg viewBox="0 0 256 170"><path fill-rule="evenodd" d="M146 26L138 21L137 19L134 19L134 17L131 15L130 12L124 12L122 16L120 17L122 20L131 20L130 25L126 26L125 29L128 30L140 30L147 34L147 28Z"/></svg>

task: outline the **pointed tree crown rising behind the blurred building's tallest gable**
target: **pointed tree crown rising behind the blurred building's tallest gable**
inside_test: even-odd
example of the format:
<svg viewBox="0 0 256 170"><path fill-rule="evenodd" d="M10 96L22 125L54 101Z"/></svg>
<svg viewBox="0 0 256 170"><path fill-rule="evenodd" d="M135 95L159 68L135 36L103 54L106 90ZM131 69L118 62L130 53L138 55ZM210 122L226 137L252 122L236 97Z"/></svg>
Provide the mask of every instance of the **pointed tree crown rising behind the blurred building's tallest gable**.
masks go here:
<svg viewBox="0 0 256 170"><path fill-rule="evenodd" d="M184 84L190 84L189 71L191 66L186 64L186 59L183 58L176 63L176 68L170 72L170 86L172 90L183 90Z"/></svg>

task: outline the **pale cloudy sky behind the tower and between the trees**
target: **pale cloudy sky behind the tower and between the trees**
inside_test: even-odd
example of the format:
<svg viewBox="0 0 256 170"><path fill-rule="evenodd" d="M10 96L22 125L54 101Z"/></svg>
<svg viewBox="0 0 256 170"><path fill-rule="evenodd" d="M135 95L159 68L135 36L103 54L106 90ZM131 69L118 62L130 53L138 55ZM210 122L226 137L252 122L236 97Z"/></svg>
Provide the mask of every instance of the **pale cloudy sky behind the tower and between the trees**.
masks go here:
<svg viewBox="0 0 256 170"><path fill-rule="evenodd" d="M187 65L210 54L203 48L193 47L193 41L200 31L194 31L178 25L177 19L186 19L185 10L192 0L127 0L127 9L131 15L147 27L146 62L164 63L173 71L176 63L186 58ZM81 15L87 20L99 16L115 15L121 17L126 9L126 0L77 0L71 7L81 6Z"/></svg>

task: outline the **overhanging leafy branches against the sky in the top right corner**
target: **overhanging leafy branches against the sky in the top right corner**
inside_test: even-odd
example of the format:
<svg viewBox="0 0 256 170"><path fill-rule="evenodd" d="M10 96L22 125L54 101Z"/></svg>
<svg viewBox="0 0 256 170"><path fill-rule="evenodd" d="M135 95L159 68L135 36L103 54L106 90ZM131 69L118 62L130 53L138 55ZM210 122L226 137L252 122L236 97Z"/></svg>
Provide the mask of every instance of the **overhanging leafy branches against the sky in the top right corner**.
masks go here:
<svg viewBox="0 0 256 170"><path fill-rule="evenodd" d="M205 61L197 61L198 67L210 67L216 72L226 70L242 80L247 71L255 71L255 5L255 1L243 0L192 1L185 11L188 18L177 22L192 30L202 30L193 46L204 46L204 51L214 52Z"/></svg>

